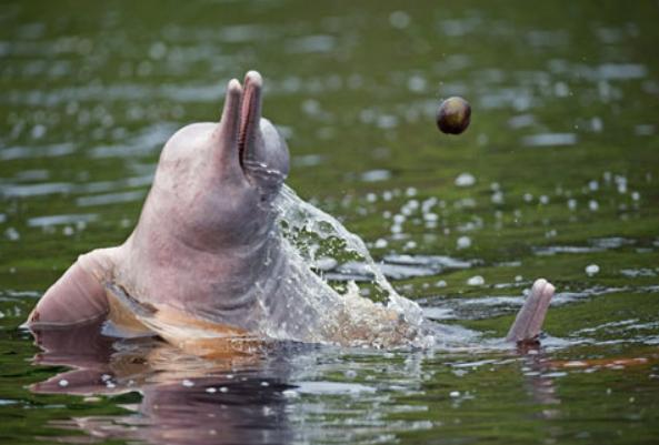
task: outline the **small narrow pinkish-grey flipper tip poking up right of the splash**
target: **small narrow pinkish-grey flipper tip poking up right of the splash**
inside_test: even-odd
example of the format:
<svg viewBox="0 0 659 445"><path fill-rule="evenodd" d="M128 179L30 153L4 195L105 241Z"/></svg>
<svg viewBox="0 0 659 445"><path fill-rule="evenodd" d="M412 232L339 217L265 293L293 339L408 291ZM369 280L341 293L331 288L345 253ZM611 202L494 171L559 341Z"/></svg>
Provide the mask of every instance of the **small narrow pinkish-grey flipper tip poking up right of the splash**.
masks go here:
<svg viewBox="0 0 659 445"><path fill-rule="evenodd" d="M537 341L553 291L553 285L547 280L536 280L530 295L525 301L522 309L517 313L515 323L508 331L507 342L529 343Z"/></svg>

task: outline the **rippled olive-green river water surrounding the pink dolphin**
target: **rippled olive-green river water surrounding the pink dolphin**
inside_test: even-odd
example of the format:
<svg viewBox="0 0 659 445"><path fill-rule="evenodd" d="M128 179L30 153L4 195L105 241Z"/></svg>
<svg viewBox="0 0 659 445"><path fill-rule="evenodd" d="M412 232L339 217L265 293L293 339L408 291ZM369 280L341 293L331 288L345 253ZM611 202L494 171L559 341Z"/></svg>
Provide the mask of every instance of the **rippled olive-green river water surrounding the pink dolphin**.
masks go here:
<svg viewBox="0 0 659 445"><path fill-rule="evenodd" d="M0 443L659 441L657 2L54 3L0 3ZM162 143L248 69L288 183L403 295L485 346L545 276L542 347L206 363L73 333L37 355L37 299L126 239ZM455 94L472 123L449 138Z"/></svg>

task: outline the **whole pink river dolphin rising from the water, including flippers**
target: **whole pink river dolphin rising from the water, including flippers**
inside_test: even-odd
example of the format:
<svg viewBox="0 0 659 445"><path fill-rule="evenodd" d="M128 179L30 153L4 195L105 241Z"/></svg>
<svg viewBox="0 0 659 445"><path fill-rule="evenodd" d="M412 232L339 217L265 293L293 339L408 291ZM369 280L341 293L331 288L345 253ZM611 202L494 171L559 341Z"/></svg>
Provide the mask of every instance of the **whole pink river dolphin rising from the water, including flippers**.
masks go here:
<svg viewBox="0 0 659 445"><path fill-rule="evenodd" d="M291 257L273 205L289 152L261 117L261 90L256 71L242 85L231 80L219 123L193 123L169 139L132 234L79 256L29 327L108 318L120 335L156 333L201 354L218 338L395 346L419 335L405 314L339 295ZM552 294L536 282L509 341L539 334Z"/></svg>

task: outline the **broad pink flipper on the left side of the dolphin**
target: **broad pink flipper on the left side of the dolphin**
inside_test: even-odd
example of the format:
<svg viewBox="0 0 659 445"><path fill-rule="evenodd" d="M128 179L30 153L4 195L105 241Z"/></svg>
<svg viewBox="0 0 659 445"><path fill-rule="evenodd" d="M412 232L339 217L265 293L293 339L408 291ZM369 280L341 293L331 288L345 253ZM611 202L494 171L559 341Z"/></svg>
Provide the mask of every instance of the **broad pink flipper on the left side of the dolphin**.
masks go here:
<svg viewBox="0 0 659 445"><path fill-rule="evenodd" d="M29 327L68 326L108 314L108 299L101 284L110 276L117 249L99 249L78 261L39 300L26 323Z"/></svg>

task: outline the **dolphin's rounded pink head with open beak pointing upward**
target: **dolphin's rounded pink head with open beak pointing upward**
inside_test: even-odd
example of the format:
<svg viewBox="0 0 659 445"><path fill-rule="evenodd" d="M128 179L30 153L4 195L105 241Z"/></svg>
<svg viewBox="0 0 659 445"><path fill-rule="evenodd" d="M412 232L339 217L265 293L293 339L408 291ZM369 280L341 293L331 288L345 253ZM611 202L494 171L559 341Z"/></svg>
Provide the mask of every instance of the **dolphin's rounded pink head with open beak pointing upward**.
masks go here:
<svg viewBox="0 0 659 445"><path fill-rule="evenodd" d="M250 71L242 85L228 83L219 123L190 124L172 135L139 226L157 225L198 250L244 246L269 233L289 153L261 108L262 79Z"/></svg>

